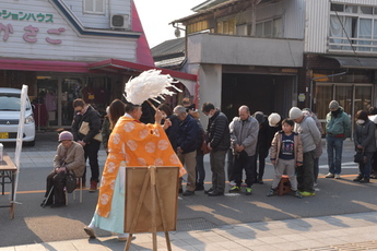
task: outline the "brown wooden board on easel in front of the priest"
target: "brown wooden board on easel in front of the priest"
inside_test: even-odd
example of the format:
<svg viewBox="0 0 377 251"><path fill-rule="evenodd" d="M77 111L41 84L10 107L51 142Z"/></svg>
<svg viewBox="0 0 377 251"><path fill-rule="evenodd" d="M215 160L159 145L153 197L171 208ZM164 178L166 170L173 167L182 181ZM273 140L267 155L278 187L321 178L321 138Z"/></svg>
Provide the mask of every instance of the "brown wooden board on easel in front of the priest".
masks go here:
<svg viewBox="0 0 377 251"><path fill-rule="evenodd" d="M157 250L158 230L165 232L167 250L172 250L168 230L176 229L178 172L178 167L126 168L125 232L129 237L125 251L130 249L134 232L152 232L153 250Z"/></svg>

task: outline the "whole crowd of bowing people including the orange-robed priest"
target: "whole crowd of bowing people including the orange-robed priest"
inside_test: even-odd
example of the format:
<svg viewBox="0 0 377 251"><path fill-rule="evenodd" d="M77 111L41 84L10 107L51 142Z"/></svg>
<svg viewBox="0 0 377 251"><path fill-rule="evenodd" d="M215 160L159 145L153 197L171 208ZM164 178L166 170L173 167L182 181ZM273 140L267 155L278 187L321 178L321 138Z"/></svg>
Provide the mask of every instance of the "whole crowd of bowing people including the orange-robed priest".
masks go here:
<svg viewBox="0 0 377 251"><path fill-rule="evenodd" d="M66 205L64 174L72 171L82 178L85 187L89 159L90 192L97 191L99 182L98 150L101 142L108 155L101 179L98 203L92 222L84 230L95 237L94 227L123 232L126 166L179 166L179 193L195 195L204 190L203 156L209 154L212 184L204 193L221 196L226 190L225 162L229 193L252 194L255 183L263 183L266 158L274 166L272 187L267 195L278 194L283 175L288 177L292 194L296 198L315 195L321 155L321 136L326 134L329 172L326 178L340 179L343 141L351 134L351 121L337 100L329 104L326 130L308 108L292 107L287 118L272 112L250 113L249 107L238 108L238 117L229 122L225 113L211 103L204 103L201 112L208 117L207 129L199 110L189 98L170 107L155 108L154 123L142 123L142 106L115 99L107 108L102 124L99 113L83 99L73 101L75 116L72 132L59 135L54 170L47 177L44 204ZM361 152L360 174L355 182L369 182L377 175L376 124L377 109L360 110L355 116L353 141ZM227 156L227 157L226 157ZM259 166L258 166L259 164ZM245 179L244 179L245 172ZM186 175L187 176L184 176ZM186 188L182 181L186 179Z"/></svg>

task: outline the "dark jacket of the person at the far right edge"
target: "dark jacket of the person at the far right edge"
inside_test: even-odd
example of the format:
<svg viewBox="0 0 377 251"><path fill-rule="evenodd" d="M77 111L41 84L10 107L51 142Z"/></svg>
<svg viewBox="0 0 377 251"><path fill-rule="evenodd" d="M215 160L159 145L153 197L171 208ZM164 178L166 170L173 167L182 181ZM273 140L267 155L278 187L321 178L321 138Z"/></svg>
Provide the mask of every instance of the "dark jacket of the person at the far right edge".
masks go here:
<svg viewBox="0 0 377 251"><path fill-rule="evenodd" d="M366 153L376 152L375 131L376 125L370 120L365 121L363 124L356 123L356 128L353 133L355 147L357 145L362 145Z"/></svg>

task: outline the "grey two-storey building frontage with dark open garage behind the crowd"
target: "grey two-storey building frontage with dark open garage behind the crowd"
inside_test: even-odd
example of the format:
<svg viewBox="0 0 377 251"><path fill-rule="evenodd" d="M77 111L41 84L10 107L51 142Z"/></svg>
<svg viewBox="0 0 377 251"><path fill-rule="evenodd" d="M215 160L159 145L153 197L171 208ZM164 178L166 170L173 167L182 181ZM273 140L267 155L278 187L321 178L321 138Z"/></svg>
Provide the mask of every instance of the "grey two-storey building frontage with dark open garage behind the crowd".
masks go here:
<svg viewBox="0 0 377 251"><path fill-rule="evenodd" d="M187 17L187 68L200 103L229 118L311 108L323 121L337 99L353 117L375 106L376 0L209 0ZM189 71L189 72L190 72Z"/></svg>

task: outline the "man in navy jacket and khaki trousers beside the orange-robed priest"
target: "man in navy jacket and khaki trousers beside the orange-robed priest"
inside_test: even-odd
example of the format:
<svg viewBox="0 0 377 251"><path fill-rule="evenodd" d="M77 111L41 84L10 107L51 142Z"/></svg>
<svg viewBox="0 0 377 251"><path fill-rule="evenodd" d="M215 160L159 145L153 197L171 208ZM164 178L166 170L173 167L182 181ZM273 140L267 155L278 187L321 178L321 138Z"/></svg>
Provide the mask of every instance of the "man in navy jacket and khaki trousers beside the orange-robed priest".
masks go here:
<svg viewBox="0 0 377 251"><path fill-rule="evenodd" d="M189 196L195 194L196 190L199 125L197 123L197 120L189 116L184 106L176 106L173 112L180 121L177 138L177 155L181 164L185 165L186 171L188 174L187 189L182 193L182 195Z"/></svg>

